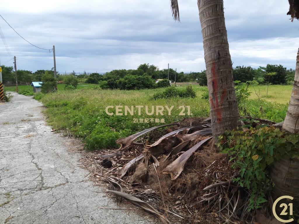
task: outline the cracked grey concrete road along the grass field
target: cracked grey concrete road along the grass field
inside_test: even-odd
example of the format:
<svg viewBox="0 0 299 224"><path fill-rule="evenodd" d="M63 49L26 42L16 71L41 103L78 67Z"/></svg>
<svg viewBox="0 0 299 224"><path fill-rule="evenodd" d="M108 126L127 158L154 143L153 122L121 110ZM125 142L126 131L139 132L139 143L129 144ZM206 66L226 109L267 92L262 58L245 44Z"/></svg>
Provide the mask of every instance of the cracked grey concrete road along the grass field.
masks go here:
<svg viewBox="0 0 299 224"><path fill-rule="evenodd" d="M0 104L0 223L154 223L152 215L121 208L86 181L80 153L50 132L42 104L13 93ZM134 207L135 208L135 207Z"/></svg>

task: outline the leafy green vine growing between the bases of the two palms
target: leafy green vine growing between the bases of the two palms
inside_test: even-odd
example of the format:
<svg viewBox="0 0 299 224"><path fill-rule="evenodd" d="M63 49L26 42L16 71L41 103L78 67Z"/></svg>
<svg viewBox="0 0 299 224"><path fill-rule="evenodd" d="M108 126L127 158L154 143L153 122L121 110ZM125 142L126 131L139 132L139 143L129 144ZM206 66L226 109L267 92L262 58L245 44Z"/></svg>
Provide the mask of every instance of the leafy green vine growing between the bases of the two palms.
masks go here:
<svg viewBox="0 0 299 224"><path fill-rule="evenodd" d="M247 127L247 126L245 126ZM287 134L274 127L242 128L226 131L219 137L218 147L229 155L232 168L239 171L233 179L251 195L249 210L260 208L272 187L270 166L281 158L299 156L299 135Z"/></svg>

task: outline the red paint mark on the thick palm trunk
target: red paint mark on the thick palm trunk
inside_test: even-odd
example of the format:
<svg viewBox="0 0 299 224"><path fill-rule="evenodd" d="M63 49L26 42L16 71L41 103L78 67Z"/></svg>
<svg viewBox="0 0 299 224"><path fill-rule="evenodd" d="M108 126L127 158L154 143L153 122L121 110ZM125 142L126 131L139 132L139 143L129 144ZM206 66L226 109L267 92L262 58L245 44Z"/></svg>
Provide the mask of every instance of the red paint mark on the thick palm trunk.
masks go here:
<svg viewBox="0 0 299 224"><path fill-rule="evenodd" d="M218 100L218 96L216 91L219 90L219 85L217 81L217 73L216 73L216 65L215 62L212 64L212 88L213 88L213 95L210 98L211 106L214 110L216 110L216 116L217 116L217 123L220 123L222 121L222 108L219 108L220 102L223 102L225 95L226 95L226 89L223 89L220 102Z"/></svg>

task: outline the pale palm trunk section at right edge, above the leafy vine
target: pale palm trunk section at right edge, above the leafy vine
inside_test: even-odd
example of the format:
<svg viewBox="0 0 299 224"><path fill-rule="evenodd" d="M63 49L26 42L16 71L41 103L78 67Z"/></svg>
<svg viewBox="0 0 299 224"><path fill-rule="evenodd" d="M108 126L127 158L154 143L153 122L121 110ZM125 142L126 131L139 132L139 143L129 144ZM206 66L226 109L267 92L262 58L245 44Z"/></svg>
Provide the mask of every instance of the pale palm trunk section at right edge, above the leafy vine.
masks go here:
<svg viewBox="0 0 299 224"><path fill-rule="evenodd" d="M289 102L289 109L284 119L283 129L290 133L299 133L299 50L292 95Z"/></svg>

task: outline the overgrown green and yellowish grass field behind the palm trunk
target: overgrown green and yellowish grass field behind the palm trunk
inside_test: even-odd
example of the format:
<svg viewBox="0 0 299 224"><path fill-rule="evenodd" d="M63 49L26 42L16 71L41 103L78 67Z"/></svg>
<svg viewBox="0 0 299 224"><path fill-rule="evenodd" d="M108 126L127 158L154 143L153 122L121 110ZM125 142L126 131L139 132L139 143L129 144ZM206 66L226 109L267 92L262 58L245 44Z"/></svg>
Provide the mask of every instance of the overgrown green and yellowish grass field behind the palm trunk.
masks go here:
<svg viewBox="0 0 299 224"><path fill-rule="evenodd" d="M184 88L184 87L179 87ZM179 106L190 106L190 116L208 117L209 102L202 99L202 94L207 87L193 85L196 91L196 98L173 98L157 99L151 97L156 92L162 92L164 89L154 90L101 90L93 89L92 85L79 84L77 90L64 90L60 84L58 91L46 94L41 98L43 104L47 107L45 114L48 116L48 122L57 130L67 130L76 137L81 137L86 143L86 148L94 150L98 148L115 147L115 140L121 137L129 136L146 128L161 125L161 119L165 123L181 121L185 116L180 116ZM292 86L270 86L268 97L266 95L266 86L260 86L260 99L255 96L254 89L251 88L250 98L242 102L240 115L256 115L260 118L266 118L275 122L283 121L286 116L287 103L291 94ZM280 94L276 94L280 93ZM109 109L115 113L115 106L174 106L171 115L165 113L162 115L151 116L145 113L144 108L138 115L138 109L135 108L134 115L127 116L109 116L105 112L107 106L113 106ZM167 112L167 111L166 111ZM189 116L189 117L190 117ZM160 119L159 122L144 122L145 119ZM138 119L138 122L135 122ZM140 119L142 122L140 122Z"/></svg>

